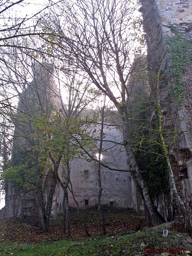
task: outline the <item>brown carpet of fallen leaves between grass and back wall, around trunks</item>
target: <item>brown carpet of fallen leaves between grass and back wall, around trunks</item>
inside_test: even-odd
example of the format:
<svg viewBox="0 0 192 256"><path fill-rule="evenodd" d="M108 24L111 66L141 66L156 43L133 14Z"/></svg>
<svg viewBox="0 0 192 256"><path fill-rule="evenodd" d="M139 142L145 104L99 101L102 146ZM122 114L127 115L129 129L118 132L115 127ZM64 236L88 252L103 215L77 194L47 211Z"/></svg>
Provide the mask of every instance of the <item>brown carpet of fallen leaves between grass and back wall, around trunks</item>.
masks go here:
<svg viewBox="0 0 192 256"><path fill-rule="evenodd" d="M144 216L137 215L131 210L113 209L104 212L107 235L117 233L130 233L148 227ZM96 210L81 211L81 216L87 226L90 236L102 235L101 221ZM11 218L0 221L0 236L13 242L36 243L41 241L57 241L66 239L62 231L62 218L50 220L47 233L43 233L39 227L23 223L19 218ZM71 212L71 238L84 237L82 224L76 212Z"/></svg>

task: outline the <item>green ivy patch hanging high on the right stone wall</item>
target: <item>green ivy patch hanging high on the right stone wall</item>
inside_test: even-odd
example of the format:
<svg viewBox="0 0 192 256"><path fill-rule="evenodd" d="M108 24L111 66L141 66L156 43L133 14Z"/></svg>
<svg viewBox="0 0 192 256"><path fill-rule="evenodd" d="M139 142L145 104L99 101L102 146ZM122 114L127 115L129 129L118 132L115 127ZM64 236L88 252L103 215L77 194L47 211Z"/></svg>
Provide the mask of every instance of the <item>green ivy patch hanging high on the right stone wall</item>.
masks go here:
<svg viewBox="0 0 192 256"><path fill-rule="evenodd" d="M174 36L166 38L165 49L171 66L166 70L168 86L175 98L175 105L179 106L186 97L183 83L183 70L190 63L189 41L183 37L175 26L171 26Z"/></svg>

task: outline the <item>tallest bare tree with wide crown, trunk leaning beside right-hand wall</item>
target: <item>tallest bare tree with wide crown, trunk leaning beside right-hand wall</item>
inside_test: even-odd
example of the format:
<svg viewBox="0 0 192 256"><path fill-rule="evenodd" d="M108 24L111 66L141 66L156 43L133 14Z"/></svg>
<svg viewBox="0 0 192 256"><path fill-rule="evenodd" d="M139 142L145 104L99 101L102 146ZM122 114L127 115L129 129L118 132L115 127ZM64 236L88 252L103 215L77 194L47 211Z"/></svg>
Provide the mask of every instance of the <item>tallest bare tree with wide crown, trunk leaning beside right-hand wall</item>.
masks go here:
<svg viewBox="0 0 192 256"><path fill-rule="evenodd" d="M164 219L151 201L129 137L128 79L137 65L137 62L133 65L133 58L138 49L135 45L138 31L133 28L139 29L141 26L140 20L133 15L136 9L137 4L132 1L83 0L59 6L62 19L58 20L52 12L49 19L52 25L46 23L45 27L49 33L55 30L59 32L59 40L52 38L58 55L65 56L70 67L87 73L89 80L118 109L123 121L124 146L130 171L137 177L154 223L162 223ZM47 41L51 41L50 38Z"/></svg>

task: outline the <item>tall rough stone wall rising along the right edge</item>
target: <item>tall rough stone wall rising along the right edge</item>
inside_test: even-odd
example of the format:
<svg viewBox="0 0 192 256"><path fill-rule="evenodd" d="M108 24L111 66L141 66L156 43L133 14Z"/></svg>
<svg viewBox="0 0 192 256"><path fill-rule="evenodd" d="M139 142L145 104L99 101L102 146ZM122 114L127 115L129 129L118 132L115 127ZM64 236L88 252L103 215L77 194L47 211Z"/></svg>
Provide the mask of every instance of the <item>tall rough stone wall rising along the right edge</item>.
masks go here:
<svg viewBox="0 0 192 256"><path fill-rule="evenodd" d="M177 87L171 70L173 58L170 58L170 47L166 46L168 38L174 38L175 31L179 35L192 40L192 4L190 0L141 0L143 13L143 25L147 41L148 70L151 72L151 84L155 89L157 80L153 79L160 70L163 77L161 82L161 107L163 115L163 129L166 142L170 143L169 159L174 171L177 190L182 195L186 208L191 215L192 206L192 62L188 63L182 70L183 90L175 93ZM176 29L176 30L175 30ZM177 33L176 32L176 33ZM172 40L171 39L171 40ZM177 42L179 44L179 41ZM175 43L176 44L176 43ZM179 49L179 46L178 46ZM189 58L192 52L192 44L189 44ZM179 50L178 50L179 51ZM177 67L182 65L182 59L178 58ZM179 66L180 65L180 66ZM168 77L169 75L169 77ZM175 84L174 84L175 83ZM171 85L170 85L171 84ZM170 90L168 90L170 89ZM177 88L176 88L177 89ZM184 92L185 99L182 104L175 105L179 98L178 94ZM152 94L154 90L152 90ZM174 95L177 94L177 95ZM184 95L183 94L183 95ZM173 133L174 131L174 133ZM177 136L175 136L177 134ZM155 199L157 209L163 217L170 221L180 212L177 202L171 200L172 190L169 195L160 195ZM163 207L163 204L165 207Z"/></svg>

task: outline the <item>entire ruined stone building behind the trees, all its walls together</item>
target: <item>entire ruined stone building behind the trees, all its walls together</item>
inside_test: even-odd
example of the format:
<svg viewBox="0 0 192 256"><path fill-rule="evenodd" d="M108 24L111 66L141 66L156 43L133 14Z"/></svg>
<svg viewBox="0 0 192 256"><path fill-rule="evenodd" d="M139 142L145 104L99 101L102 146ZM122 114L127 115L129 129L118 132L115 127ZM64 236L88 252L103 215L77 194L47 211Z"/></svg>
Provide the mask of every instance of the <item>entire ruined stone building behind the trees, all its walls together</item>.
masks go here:
<svg viewBox="0 0 192 256"><path fill-rule="evenodd" d="M154 96L157 88L157 79L154 79L155 74L160 74L160 88L161 88L161 113L163 116L163 134L166 137L166 142L170 144L169 159L174 172L175 183L177 190L179 191L184 204L191 216L192 207L192 62L190 62L182 70L182 81L185 85L183 90L186 91L186 97L182 105L175 105L174 101L177 95L174 96L174 91L167 90L169 84L174 86L173 81L169 80L169 72L172 72L172 61L169 58L170 45L166 47L169 38L175 36L174 28L177 28L183 38L186 38L189 44L189 58L192 59L192 2L191 0L140 0L141 8L140 12L143 14L143 27L146 33L147 42L147 69L148 69L148 81L133 82L134 79L129 81L129 85L136 86L135 89L131 87L132 98L134 102L135 96L141 91L143 94L149 94ZM170 43L169 43L170 44ZM178 48L179 49L179 48ZM180 60L178 60L179 62ZM43 92L47 89L41 90L41 78L44 77L45 84L53 84L53 87L49 87L48 95L49 101L52 103L55 97L54 79L49 73L45 75L44 70L41 70L37 79L36 87L40 90L40 94L43 99ZM41 77L41 78L40 78ZM157 78L157 77L156 77ZM145 79L148 78L145 76ZM37 86L38 85L38 86ZM149 88L150 87L150 88ZM144 90L143 90L144 88ZM34 92L34 93L33 93ZM21 98L18 108L21 108L23 104L23 111L34 111L36 108L35 91L32 92L32 88L26 89L23 94L30 95L30 99L27 101ZM141 99L142 101L143 99ZM155 96L154 96L155 98ZM26 98L25 98L26 99ZM38 99L39 101L39 99ZM58 99L59 102L59 99ZM154 103L150 99L148 102L151 108L151 123L155 118ZM27 107L27 108L26 108ZM21 110L22 110L21 108ZM38 109L41 111L41 109ZM28 129L28 128L27 128ZM26 127L21 127L21 124L15 124L15 134L19 134L20 131L27 131ZM104 134L106 141L103 145L102 161L108 162L109 167L115 167L117 169L128 169L127 157L122 145L114 145L122 142L122 132L117 126L105 125ZM20 130L20 131L19 131ZM94 127L95 135L99 134L99 125ZM175 131L173 133L173 131ZM175 136L176 134L176 136ZM15 137L17 140L17 136ZM18 137L18 140L19 137ZM28 138L22 137L22 140L18 143L20 147L26 148ZM111 149L113 148L113 150ZM13 160L20 161L17 156L17 149L13 150ZM94 157L97 157L98 149L93 151ZM97 181L97 163L93 160L76 159L74 158L71 163L71 182L73 184L73 191L76 200L81 208L94 207L97 204L98 197L98 181ZM62 166L61 166L62 172ZM138 192L137 185L133 179L130 178L129 172L113 171L107 167L102 166L102 204L107 204L116 207L124 207L135 209L137 212L144 211L143 201L140 193ZM35 204L35 198L32 196L32 191L29 193L17 194L17 191L9 183L6 188L6 207L3 210L5 217L12 216L24 216L26 221L31 218L31 213L34 213L34 218L37 218L38 212ZM180 215L179 209L177 209L177 203L172 200L172 189L169 188L169 192L161 192L159 195L154 196L154 204L158 211L161 213L166 221L171 221L175 216ZM62 212L62 200L63 191L59 185L56 186L55 193L52 202L52 216L56 216ZM70 207L76 207L72 194L69 192L69 205ZM147 215L147 209L145 207ZM190 217L191 218L191 217ZM149 220L150 221L150 220ZM32 221L31 221L32 222Z"/></svg>

